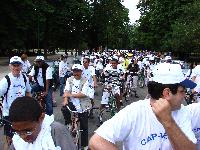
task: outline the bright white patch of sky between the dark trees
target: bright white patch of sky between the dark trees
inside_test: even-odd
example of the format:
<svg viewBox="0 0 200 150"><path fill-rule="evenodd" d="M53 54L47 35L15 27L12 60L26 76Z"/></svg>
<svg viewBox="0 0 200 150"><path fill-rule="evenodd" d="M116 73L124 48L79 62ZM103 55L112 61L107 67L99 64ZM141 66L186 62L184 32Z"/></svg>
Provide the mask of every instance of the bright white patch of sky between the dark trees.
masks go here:
<svg viewBox="0 0 200 150"><path fill-rule="evenodd" d="M134 23L140 18L140 12L136 9L138 2L139 0L124 0L124 2L122 2L122 4L129 9L129 18L131 23Z"/></svg>

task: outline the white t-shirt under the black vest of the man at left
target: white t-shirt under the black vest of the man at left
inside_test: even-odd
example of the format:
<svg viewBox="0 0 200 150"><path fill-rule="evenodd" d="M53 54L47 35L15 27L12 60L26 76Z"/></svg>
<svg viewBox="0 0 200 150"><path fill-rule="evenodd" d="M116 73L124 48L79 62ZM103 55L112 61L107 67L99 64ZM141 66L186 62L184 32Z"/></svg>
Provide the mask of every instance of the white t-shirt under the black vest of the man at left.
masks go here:
<svg viewBox="0 0 200 150"><path fill-rule="evenodd" d="M53 71L53 68L52 67L48 67L47 70L46 70L46 80L50 80L52 79L52 71ZM35 69L34 67L31 69L31 72L29 73L30 76L34 76L35 75ZM38 80L38 83L40 86L44 86L44 83L43 83L43 78L42 78L42 68L39 68L39 71L38 71L38 75L37 75L37 80Z"/></svg>

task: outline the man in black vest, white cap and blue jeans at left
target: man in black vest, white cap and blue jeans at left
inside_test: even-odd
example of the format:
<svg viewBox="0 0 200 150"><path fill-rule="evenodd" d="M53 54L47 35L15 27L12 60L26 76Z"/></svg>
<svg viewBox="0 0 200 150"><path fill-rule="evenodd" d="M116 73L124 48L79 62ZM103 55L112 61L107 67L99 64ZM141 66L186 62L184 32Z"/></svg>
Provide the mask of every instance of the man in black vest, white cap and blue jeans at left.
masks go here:
<svg viewBox="0 0 200 150"><path fill-rule="evenodd" d="M49 67L44 61L43 56L37 56L35 59L35 65L29 73L29 80L34 78L34 84L32 85L32 93L42 91L45 96L46 114L51 116L53 114L53 82L52 82L52 68Z"/></svg>

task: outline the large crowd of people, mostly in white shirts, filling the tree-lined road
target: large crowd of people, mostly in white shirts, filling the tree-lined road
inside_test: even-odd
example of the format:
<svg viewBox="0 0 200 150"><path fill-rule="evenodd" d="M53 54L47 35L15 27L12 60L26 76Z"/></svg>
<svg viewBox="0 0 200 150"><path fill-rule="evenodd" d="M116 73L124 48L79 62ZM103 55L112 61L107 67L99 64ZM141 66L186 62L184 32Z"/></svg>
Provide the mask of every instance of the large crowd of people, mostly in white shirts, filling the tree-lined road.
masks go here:
<svg viewBox="0 0 200 150"><path fill-rule="evenodd" d="M43 56L31 67L26 54L10 59L11 72L0 81L3 96L4 150L7 149L76 149L70 135L71 115L66 106L78 112L81 146L84 150L118 149L198 149L200 150L200 103L184 106L187 91L200 93L200 65L192 63L184 75L182 64L172 56L162 57L149 51L130 50L102 53L83 52L81 59L68 64L62 55L58 64L59 95L65 125L54 121L53 68ZM72 65L72 67L70 67ZM29 69L31 67L31 69ZM138 75L144 74L148 95L124 108L127 85L138 94ZM99 125L88 139L88 116L95 101L97 86L102 85ZM45 109L33 95L42 91ZM116 100L116 114L103 122L101 111L110 94ZM88 145L89 144L89 145Z"/></svg>

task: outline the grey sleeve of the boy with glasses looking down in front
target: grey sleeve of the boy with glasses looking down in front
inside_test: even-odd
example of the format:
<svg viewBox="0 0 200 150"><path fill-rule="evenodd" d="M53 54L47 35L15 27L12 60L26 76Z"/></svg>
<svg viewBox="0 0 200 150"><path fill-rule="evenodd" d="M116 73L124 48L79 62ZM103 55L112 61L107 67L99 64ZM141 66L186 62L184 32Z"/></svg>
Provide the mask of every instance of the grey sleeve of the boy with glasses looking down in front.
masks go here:
<svg viewBox="0 0 200 150"><path fill-rule="evenodd" d="M59 146L62 150L76 150L69 130L64 125L53 122L51 133L55 146Z"/></svg>

